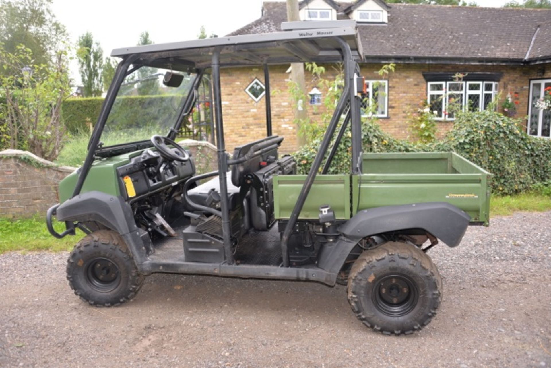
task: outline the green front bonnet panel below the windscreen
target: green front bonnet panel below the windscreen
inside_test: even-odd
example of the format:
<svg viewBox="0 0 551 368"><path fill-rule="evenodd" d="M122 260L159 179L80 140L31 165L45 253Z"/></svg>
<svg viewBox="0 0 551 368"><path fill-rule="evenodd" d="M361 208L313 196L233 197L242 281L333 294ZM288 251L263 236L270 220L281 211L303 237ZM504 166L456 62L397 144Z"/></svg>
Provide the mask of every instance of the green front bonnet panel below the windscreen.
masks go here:
<svg viewBox="0 0 551 368"><path fill-rule="evenodd" d="M118 196L120 194L120 187L118 184L117 167L128 164L132 157L139 155L141 152L136 151L108 159L96 160L90 167L80 193L99 191ZM75 171L60 182L60 203L71 198L77 180L78 174Z"/></svg>

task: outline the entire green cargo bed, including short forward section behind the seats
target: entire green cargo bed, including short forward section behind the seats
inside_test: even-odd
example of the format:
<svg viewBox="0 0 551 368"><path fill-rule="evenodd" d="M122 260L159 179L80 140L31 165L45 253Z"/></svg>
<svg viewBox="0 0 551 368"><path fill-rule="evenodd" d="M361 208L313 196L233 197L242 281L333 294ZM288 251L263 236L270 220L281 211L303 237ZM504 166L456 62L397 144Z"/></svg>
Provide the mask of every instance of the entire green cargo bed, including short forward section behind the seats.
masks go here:
<svg viewBox="0 0 551 368"><path fill-rule="evenodd" d="M456 153L368 153L363 155L363 172L317 175L299 218L316 220L323 204L330 204L338 218L348 219L362 209L448 202L469 214L471 223L489 224L490 173ZM289 218L305 178L274 176L277 219Z"/></svg>

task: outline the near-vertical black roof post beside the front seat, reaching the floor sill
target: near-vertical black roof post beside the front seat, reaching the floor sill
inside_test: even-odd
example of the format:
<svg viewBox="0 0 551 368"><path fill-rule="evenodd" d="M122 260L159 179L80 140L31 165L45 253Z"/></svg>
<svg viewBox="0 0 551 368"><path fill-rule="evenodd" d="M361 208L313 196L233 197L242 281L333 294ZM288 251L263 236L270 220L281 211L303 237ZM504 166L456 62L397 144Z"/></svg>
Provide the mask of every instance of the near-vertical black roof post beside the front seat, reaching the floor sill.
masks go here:
<svg viewBox="0 0 551 368"><path fill-rule="evenodd" d="M216 143L218 155L218 178L220 180L220 212L222 212L222 236L224 239L224 253L226 263L234 263L234 255L231 252L231 230L230 230L230 212L228 205L228 182L226 174L228 172L228 156L224 143L224 124L222 120L222 92L220 90L220 51L217 48L212 55L212 89L214 119L216 130Z"/></svg>

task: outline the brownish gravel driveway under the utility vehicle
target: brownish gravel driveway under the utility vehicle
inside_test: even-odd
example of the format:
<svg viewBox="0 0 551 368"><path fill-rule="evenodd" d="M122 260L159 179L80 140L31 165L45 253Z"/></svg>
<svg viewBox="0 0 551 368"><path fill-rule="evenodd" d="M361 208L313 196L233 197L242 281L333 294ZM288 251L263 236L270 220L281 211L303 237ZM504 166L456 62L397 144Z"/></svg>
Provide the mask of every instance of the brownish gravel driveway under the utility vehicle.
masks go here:
<svg viewBox="0 0 551 368"><path fill-rule="evenodd" d="M98 309L65 279L67 253L0 256L0 366L551 366L551 213L495 218L430 256L444 301L421 333L383 336L344 286L155 274Z"/></svg>

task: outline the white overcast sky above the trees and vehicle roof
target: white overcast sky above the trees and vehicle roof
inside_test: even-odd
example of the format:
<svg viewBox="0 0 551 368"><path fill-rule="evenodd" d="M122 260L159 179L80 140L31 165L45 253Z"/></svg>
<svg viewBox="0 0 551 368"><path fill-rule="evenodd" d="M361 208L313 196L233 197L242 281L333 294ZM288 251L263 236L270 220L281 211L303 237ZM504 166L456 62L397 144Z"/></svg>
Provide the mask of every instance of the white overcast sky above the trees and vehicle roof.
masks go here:
<svg viewBox="0 0 551 368"><path fill-rule="evenodd" d="M476 0L484 7L500 7L506 1ZM196 39L201 25L208 35L223 36L260 18L262 8L262 0L94 0L81 4L78 0L53 0L52 8L73 43L90 31L104 56L113 48L136 45L143 31L148 31L156 44ZM76 64L72 70L78 82Z"/></svg>

